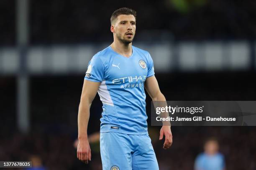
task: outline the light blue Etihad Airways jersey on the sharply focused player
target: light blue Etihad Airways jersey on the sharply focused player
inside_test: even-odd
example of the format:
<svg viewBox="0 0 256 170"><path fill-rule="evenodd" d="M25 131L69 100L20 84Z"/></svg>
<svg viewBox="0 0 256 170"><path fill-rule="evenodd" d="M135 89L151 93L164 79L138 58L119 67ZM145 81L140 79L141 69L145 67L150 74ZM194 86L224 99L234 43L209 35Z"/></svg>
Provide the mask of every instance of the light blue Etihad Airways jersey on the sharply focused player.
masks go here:
<svg viewBox="0 0 256 170"><path fill-rule="evenodd" d="M130 57L125 57L109 46L88 64L84 79L101 82L101 133L148 134L144 82L155 74L154 65L147 51L134 46L132 51Z"/></svg>

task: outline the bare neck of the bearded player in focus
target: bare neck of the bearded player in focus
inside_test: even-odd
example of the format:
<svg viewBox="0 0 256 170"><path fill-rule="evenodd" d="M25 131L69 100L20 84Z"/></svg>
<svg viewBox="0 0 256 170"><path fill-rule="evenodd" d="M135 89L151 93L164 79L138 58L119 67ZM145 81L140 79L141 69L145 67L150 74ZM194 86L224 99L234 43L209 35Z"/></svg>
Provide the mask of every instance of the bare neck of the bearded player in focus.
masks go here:
<svg viewBox="0 0 256 170"><path fill-rule="evenodd" d="M123 55L125 57L130 57L133 53L131 45L132 43L124 44L123 42L114 39L114 42L110 46L118 54Z"/></svg>

